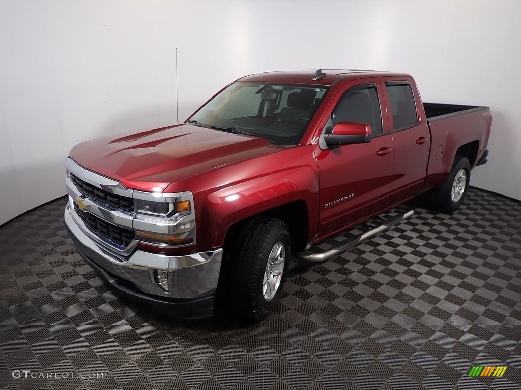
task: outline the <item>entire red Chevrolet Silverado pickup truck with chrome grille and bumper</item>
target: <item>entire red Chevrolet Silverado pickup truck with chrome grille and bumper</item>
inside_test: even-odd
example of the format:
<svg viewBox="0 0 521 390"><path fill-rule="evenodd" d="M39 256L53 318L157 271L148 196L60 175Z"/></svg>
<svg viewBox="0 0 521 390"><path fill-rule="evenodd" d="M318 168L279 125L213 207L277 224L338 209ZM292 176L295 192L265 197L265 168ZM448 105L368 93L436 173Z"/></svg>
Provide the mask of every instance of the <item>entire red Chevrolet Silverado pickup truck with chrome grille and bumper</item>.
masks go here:
<svg viewBox="0 0 521 390"><path fill-rule="evenodd" d="M242 77L180 125L107 136L66 159L65 223L116 290L173 316L214 302L260 321L290 256L429 192L460 206L487 161L488 107L423 103L407 74L324 70Z"/></svg>

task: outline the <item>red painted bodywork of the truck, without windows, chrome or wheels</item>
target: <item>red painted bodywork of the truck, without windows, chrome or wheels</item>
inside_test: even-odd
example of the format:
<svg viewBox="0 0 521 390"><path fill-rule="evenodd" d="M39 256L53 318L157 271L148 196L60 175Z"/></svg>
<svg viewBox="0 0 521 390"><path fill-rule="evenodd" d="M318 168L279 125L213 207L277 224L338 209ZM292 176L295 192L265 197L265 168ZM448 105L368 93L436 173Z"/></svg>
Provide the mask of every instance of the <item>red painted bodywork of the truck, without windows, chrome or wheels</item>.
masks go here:
<svg viewBox="0 0 521 390"><path fill-rule="evenodd" d="M70 157L128 188L191 191L197 248L190 250L207 250L222 246L232 224L292 202L306 210L303 241L320 241L441 184L462 145L478 143L472 165L487 148L491 124L487 107L438 116L429 124L410 75L324 72L326 76L318 81L312 80L314 70L240 79L330 87L299 145L276 146L263 138L185 123L83 142L71 150ZM414 127L394 131L386 81L411 85L418 116ZM382 132L366 144L320 146L320 134L342 94L366 83L376 86Z"/></svg>

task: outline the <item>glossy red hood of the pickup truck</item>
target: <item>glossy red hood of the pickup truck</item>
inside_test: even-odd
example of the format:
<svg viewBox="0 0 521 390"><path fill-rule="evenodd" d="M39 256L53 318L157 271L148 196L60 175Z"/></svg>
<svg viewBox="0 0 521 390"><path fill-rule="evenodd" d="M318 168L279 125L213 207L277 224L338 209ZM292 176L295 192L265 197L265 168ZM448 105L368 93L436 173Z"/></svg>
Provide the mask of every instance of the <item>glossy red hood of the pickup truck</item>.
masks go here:
<svg viewBox="0 0 521 390"><path fill-rule="evenodd" d="M264 138L183 124L82 142L69 157L127 188L163 191L173 181L281 149Z"/></svg>

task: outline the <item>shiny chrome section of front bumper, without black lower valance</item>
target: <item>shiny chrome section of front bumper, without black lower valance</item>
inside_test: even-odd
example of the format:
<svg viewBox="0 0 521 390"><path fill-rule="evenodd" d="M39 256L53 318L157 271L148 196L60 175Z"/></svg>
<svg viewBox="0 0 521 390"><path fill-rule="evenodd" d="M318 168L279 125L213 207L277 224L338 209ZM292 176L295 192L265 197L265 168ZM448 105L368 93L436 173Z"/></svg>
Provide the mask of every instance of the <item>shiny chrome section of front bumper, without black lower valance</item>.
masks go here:
<svg viewBox="0 0 521 390"><path fill-rule="evenodd" d="M75 214L75 210L71 210L70 205L67 204L64 214L65 224L80 254L84 258L88 257L114 280L120 278L130 282L127 283L127 288L130 285L134 292L145 297L153 295L152 301L165 298L165 302L169 302L171 298L186 300L215 292L222 249L183 256L166 256L135 250L128 259L122 259L118 255L111 254L111 250L100 241L93 240L86 233L88 228L81 226L83 222ZM96 269L94 266L93 268ZM96 270L99 272L98 269ZM155 281L154 270L168 272L169 292L159 287Z"/></svg>

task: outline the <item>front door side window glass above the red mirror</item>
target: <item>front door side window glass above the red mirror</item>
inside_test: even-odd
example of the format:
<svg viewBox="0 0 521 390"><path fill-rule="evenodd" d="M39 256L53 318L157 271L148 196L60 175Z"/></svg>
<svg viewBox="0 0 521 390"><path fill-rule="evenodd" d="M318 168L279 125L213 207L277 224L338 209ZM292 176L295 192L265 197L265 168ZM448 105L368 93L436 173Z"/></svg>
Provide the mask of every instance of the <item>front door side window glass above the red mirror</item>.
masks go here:
<svg viewBox="0 0 521 390"><path fill-rule="evenodd" d="M374 84L356 86L347 90L331 113L331 124L339 122L367 123L373 134L382 132L382 116Z"/></svg>

